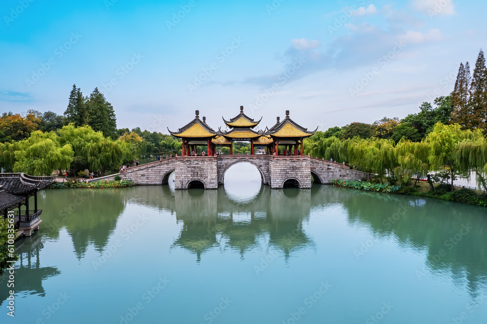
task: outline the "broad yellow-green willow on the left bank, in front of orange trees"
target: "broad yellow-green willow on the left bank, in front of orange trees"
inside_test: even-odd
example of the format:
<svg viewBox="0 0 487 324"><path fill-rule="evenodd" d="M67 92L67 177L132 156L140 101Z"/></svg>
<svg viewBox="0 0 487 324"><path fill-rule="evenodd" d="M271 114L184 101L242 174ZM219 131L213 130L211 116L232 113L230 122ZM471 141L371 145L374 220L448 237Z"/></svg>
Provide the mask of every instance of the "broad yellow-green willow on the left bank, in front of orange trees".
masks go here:
<svg viewBox="0 0 487 324"><path fill-rule="evenodd" d="M71 145L61 146L55 132L42 133L37 130L17 144L14 152L14 172L24 172L31 176L50 176L57 169L68 169L73 161L74 152Z"/></svg>

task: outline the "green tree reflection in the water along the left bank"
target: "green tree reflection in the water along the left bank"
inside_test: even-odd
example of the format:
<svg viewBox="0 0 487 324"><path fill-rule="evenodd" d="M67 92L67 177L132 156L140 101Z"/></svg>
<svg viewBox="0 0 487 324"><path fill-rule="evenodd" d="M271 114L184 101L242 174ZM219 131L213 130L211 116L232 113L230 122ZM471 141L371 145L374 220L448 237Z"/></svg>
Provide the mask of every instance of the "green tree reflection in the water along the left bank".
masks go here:
<svg viewBox="0 0 487 324"><path fill-rule="evenodd" d="M131 188L56 190L56 195L47 195L42 201L46 207L42 212L41 233L58 238L59 230L66 228L78 259L90 244L102 252L132 191Z"/></svg>

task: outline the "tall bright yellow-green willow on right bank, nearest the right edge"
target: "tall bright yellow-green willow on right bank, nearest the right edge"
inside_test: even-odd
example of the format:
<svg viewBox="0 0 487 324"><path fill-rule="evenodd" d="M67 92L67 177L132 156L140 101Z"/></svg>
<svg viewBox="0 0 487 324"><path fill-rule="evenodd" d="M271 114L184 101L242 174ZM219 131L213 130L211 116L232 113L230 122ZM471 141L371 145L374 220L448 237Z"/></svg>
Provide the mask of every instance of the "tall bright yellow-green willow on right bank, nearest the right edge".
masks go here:
<svg viewBox="0 0 487 324"><path fill-rule="evenodd" d="M459 159L460 151L456 148L456 145L464 140L474 140L478 136L478 131L472 132L469 129L463 131L459 124L443 125L437 123L433 131L426 137L426 141L431 147L430 155L428 156L431 169L439 171L445 167L450 168L451 191L453 191L455 173L465 174L468 177L470 169L464 159Z"/></svg>

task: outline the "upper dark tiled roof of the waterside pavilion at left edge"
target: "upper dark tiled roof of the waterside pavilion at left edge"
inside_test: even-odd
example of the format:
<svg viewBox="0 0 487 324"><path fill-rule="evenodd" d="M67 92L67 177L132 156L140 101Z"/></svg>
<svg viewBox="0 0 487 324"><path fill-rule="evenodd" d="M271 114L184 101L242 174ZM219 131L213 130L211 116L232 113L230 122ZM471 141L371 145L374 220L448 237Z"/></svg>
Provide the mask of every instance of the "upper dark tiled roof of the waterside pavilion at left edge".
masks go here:
<svg viewBox="0 0 487 324"><path fill-rule="evenodd" d="M9 194L33 194L47 187L56 179L52 177L33 177L25 173L0 173L0 185Z"/></svg>

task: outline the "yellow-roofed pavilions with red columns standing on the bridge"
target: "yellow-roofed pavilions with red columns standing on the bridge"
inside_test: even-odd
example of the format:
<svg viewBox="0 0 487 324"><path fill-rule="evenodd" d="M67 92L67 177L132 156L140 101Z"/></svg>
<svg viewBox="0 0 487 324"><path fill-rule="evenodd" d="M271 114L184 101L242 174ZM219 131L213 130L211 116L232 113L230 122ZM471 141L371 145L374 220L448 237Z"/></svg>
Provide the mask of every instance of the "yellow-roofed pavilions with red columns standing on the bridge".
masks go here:
<svg viewBox="0 0 487 324"><path fill-rule="evenodd" d="M265 147L266 154L280 155L279 145L284 147L281 155L303 155L303 139L313 135L314 131L308 131L289 117L289 110L286 110L286 117L282 122L277 117L277 123L264 131L256 131L254 128L259 125L262 117L258 121L244 114L244 106L240 106L240 113L226 121L225 125L229 130L213 130L199 118L199 111L196 110L196 117L186 126L179 128L177 132L169 133L174 137L179 137L183 141L182 155L196 155L197 146L206 146L208 156L216 155L217 146L230 147L230 155L233 154L233 142L250 142L251 154L255 154L255 147ZM205 149L203 149L205 152Z"/></svg>

